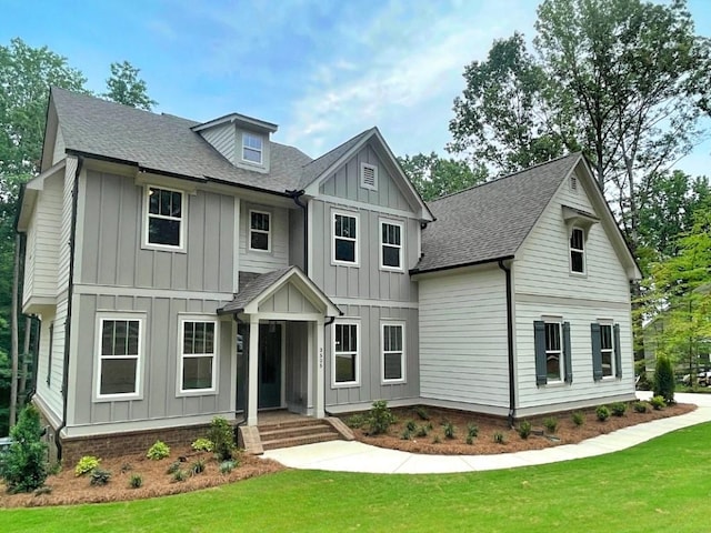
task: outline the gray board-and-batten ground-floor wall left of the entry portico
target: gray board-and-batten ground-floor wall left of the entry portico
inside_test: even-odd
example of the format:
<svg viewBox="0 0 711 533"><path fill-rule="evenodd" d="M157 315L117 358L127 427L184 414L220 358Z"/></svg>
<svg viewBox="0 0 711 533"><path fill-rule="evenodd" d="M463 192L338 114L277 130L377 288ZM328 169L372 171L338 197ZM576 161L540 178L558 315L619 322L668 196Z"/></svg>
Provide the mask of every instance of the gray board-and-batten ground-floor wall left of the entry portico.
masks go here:
<svg viewBox="0 0 711 533"><path fill-rule="evenodd" d="M233 409L231 385L236 380L232 358L233 322L220 322L218 363L218 394L177 396L179 364L179 313L214 314L223 302L187 300L181 298L139 298L81 295L77 320L78 353L82 364L77 366L74 388L74 424L100 424L212 414ZM98 364L96 339L97 312L142 311L143 322L143 398L94 402L96 369Z"/></svg>

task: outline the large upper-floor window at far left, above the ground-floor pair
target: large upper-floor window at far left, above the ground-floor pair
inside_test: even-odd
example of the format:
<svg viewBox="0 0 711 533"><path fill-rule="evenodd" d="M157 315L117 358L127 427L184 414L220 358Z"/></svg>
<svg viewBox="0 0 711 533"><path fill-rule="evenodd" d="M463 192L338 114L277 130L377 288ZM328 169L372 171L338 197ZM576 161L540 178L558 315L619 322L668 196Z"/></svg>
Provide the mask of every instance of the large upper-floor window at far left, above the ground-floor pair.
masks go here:
<svg viewBox="0 0 711 533"><path fill-rule="evenodd" d="M146 244L183 248L184 193L159 187L147 188Z"/></svg>

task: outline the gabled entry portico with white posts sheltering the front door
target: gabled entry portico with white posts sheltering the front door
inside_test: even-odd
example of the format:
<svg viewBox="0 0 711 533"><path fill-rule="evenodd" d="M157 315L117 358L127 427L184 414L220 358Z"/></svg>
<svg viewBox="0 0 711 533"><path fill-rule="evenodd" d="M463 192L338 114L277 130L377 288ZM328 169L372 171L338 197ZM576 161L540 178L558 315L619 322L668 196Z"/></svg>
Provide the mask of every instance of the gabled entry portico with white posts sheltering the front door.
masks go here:
<svg viewBox="0 0 711 533"><path fill-rule="evenodd" d="M218 312L240 323L247 425L260 408L324 416L324 326L341 312L298 266L257 276Z"/></svg>

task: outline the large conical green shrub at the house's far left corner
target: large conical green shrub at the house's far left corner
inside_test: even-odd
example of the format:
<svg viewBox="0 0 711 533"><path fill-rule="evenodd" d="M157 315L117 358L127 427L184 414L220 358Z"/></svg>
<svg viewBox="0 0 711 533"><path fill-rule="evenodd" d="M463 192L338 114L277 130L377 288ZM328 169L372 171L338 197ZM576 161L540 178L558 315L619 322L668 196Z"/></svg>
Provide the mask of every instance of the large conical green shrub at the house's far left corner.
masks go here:
<svg viewBox="0 0 711 533"><path fill-rule="evenodd" d="M32 492L47 480L47 444L42 442L40 413L34 405L22 410L10 436L12 443L0 454L0 477L8 492Z"/></svg>

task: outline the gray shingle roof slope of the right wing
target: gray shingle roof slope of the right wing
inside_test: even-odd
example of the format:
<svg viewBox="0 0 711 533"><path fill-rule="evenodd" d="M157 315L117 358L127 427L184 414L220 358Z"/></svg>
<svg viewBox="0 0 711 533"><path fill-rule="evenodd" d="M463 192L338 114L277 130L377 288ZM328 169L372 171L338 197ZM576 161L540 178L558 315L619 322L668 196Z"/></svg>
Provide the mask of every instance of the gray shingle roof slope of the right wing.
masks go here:
<svg viewBox="0 0 711 533"><path fill-rule="evenodd" d="M512 257L582 155L573 153L429 203L422 232L427 272Z"/></svg>

